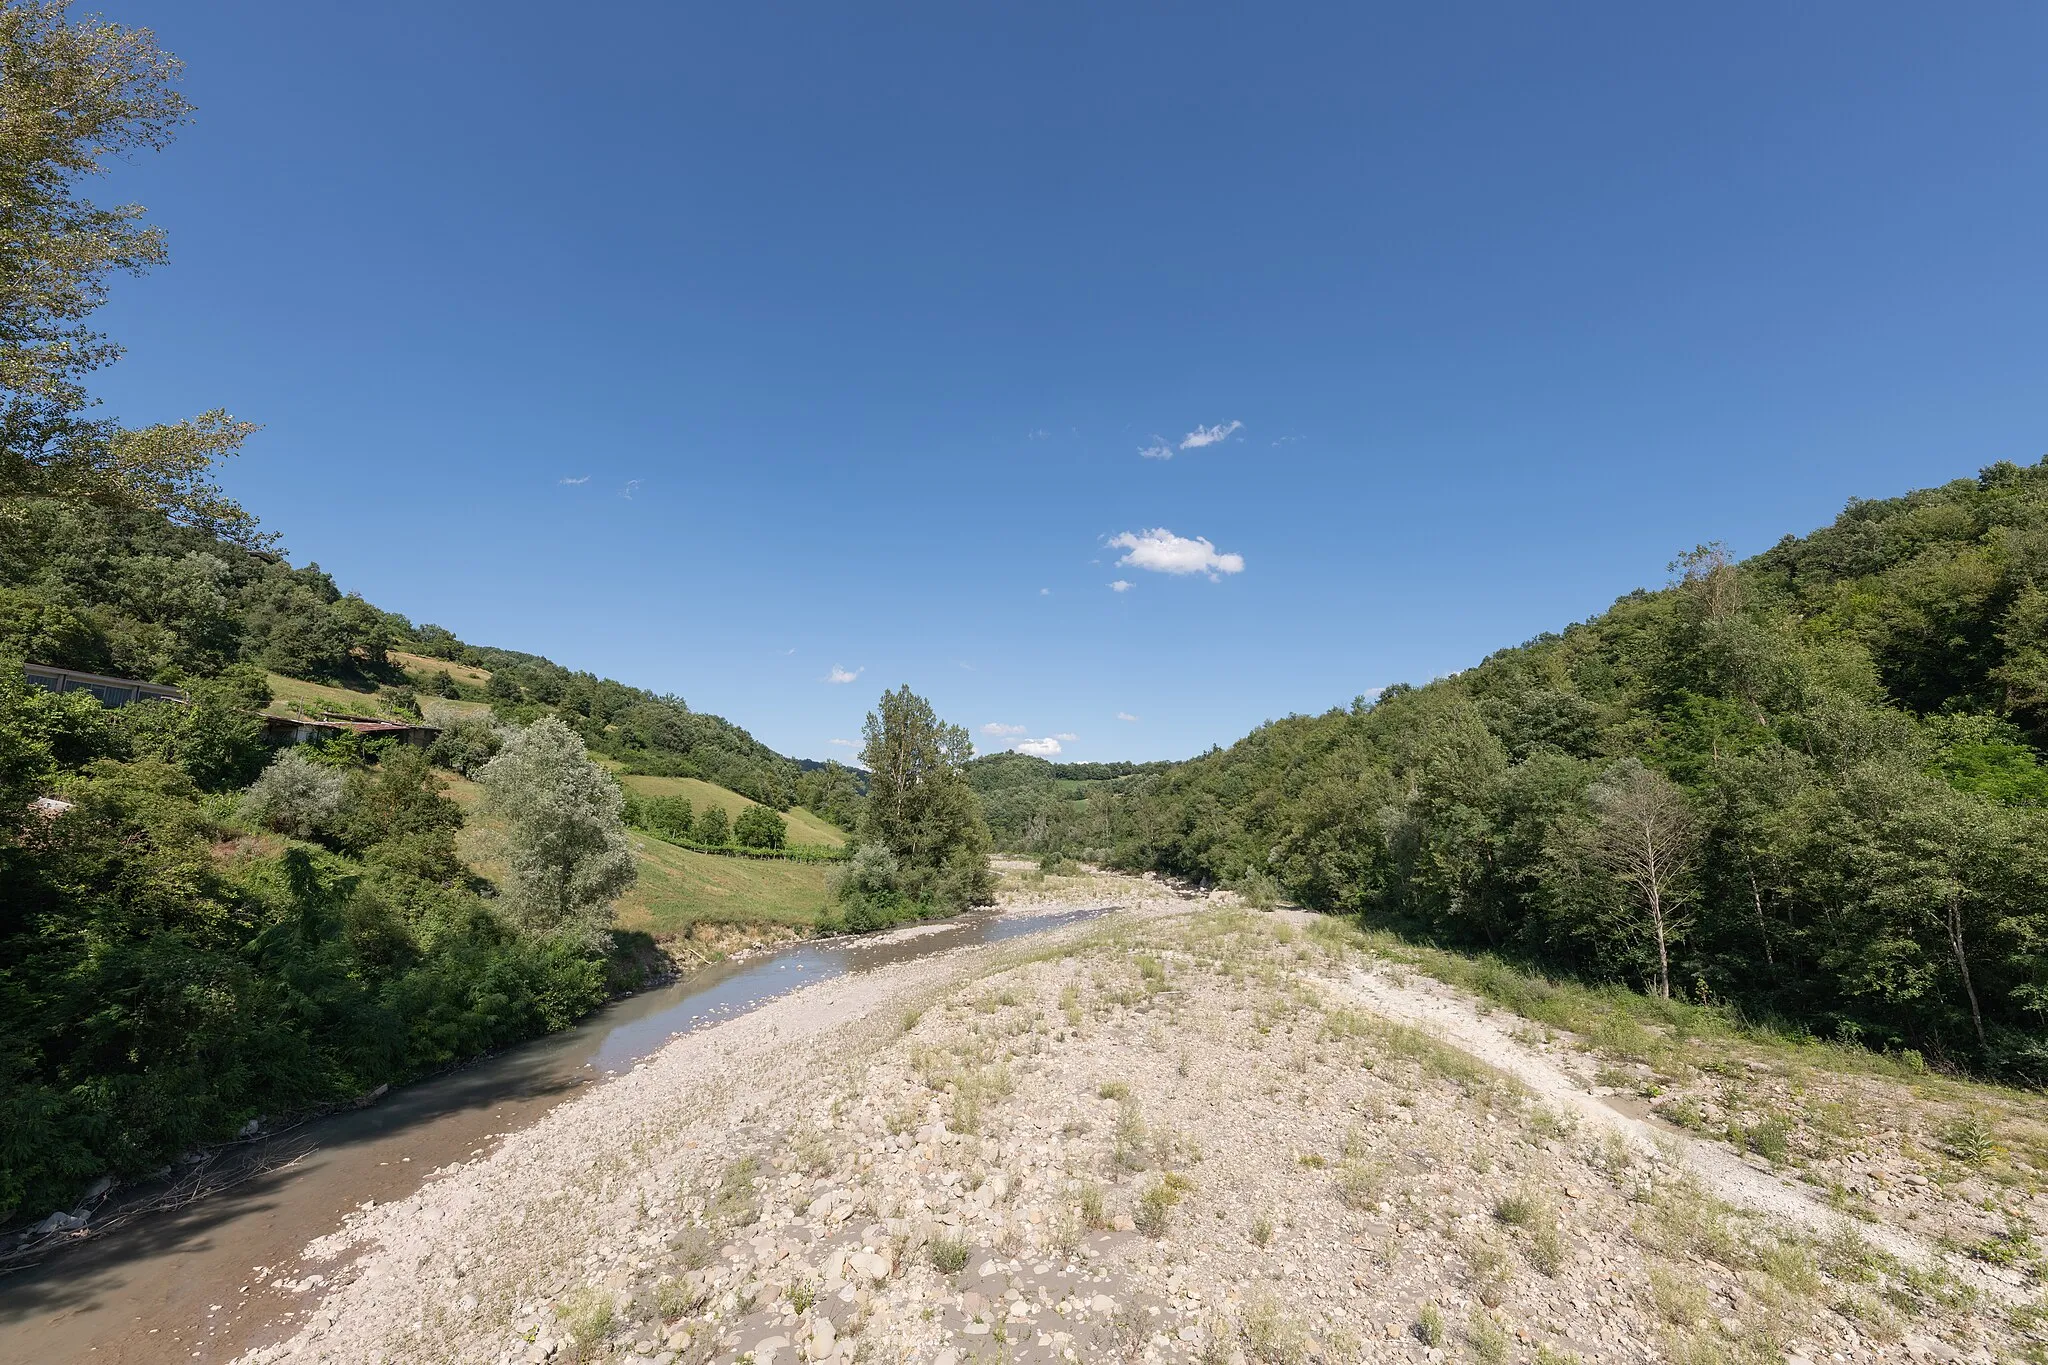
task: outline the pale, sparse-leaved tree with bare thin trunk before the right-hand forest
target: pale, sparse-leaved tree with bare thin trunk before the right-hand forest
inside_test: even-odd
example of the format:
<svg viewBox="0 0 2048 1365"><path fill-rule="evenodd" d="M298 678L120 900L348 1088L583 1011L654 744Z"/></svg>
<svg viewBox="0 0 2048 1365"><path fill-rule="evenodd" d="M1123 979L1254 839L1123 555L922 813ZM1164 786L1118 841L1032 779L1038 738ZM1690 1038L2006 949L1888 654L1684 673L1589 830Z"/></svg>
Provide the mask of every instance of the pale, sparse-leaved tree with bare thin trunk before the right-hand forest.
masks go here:
<svg viewBox="0 0 2048 1365"><path fill-rule="evenodd" d="M1683 882L1698 849L1686 794L1640 759L1622 759L1587 790L1587 851L1645 917L1657 950L1657 997L1671 999L1671 943L1686 931Z"/></svg>

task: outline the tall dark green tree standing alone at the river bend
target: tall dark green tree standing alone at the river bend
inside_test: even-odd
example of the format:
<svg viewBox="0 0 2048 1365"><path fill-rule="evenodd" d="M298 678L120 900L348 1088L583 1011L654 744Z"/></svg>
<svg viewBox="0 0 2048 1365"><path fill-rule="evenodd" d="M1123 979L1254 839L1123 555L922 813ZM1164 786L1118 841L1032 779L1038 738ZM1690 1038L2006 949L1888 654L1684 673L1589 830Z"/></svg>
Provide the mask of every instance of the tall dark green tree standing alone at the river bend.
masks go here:
<svg viewBox="0 0 2048 1365"><path fill-rule="evenodd" d="M967 782L975 745L907 686L885 692L862 729L868 800L860 841L897 860L899 888L926 905L967 907L989 898L989 825Z"/></svg>

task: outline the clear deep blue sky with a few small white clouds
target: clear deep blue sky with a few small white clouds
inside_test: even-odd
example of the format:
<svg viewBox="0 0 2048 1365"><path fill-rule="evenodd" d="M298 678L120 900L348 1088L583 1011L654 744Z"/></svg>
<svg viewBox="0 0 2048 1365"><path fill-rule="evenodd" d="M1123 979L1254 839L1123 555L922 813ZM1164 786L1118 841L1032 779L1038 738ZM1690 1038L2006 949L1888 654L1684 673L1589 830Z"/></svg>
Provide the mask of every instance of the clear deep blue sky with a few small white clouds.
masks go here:
<svg viewBox="0 0 2048 1365"><path fill-rule="evenodd" d="M1182 757L2048 448L2042 6L104 8L109 411L797 755Z"/></svg>

